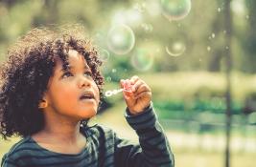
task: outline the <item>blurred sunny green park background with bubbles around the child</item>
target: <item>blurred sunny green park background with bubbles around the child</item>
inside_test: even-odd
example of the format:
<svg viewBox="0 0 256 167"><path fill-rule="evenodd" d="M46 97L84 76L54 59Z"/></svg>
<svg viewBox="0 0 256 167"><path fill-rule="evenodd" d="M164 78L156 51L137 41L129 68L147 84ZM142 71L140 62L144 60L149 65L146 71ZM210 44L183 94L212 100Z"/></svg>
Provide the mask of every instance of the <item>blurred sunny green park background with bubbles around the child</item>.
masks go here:
<svg viewBox="0 0 256 167"><path fill-rule="evenodd" d="M255 10L254 0L0 0L0 61L32 28L80 23L105 91L134 74L151 86L177 167L254 167ZM121 94L103 104L91 123L136 140ZM0 157L17 139L0 140Z"/></svg>

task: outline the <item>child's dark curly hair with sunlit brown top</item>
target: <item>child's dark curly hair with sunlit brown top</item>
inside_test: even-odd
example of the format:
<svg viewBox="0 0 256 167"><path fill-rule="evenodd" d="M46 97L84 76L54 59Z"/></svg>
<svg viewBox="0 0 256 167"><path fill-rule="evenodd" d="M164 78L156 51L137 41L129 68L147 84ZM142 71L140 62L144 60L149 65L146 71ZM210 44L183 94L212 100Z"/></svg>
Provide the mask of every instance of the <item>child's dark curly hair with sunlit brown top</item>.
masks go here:
<svg viewBox="0 0 256 167"><path fill-rule="evenodd" d="M103 98L102 61L91 40L84 36L81 25L33 29L9 49L8 59L0 68L0 133L4 139L30 136L43 128L43 114L38 104L56 59L60 58L66 66L71 49L84 56Z"/></svg>

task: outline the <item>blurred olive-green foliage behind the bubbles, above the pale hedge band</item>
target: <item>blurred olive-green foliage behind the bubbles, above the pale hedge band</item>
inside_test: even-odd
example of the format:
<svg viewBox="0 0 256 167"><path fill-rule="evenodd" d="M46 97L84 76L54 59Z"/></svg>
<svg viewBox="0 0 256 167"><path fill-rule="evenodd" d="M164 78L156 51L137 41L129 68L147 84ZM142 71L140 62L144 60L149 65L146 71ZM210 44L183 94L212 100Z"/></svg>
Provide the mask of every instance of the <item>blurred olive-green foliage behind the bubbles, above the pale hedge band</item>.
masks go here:
<svg viewBox="0 0 256 167"><path fill-rule="evenodd" d="M136 37L135 47L126 55L109 52L109 67L125 69L131 73L140 73L128 62L132 54L140 48L151 50L154 64L152 72L173 71L213 71L221 72L223 64L224 38L223 0L192 2L192 10L183 20L169 21L159 10L159 1L149 0L2 0L0 1L0 60L5 58L7 48L21 34L31 27L49 26L79 22L90 36L95 39L99 49L107 49L107 31L115 23L115 15L134 10L141 15L141 20L127 22ZM237 3L234 0L234 3ZM234 12L233 46L234 68L236 71L253 73L255 66L254 25L255 3L253 0L242 1L248 19L244 13ZM247 17L246 17L247 18ZM122 17L128 20L128 15ZM100 41L97 39L100 35ZM166 47L175 41L182 41L186 50L178 57L170 56ZM122 70L120 70L122 71ZM105 72L111 73L111 68Z"/></svg>

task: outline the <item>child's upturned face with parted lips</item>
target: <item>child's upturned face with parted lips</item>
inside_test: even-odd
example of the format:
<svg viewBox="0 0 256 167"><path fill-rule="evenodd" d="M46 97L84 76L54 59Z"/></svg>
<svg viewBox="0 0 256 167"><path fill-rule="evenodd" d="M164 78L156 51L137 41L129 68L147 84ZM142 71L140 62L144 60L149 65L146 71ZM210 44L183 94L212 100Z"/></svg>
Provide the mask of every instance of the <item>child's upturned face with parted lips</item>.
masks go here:
<svg viewBox="0 0 256 167"><path fill-rule="evenodd" d="M97 114L99 89L86 60L79 52L69 51L68 62L70 69L64 71L61 60L57 60L45 93L48 102L45 111L75 120L90 118Z"/></svg>

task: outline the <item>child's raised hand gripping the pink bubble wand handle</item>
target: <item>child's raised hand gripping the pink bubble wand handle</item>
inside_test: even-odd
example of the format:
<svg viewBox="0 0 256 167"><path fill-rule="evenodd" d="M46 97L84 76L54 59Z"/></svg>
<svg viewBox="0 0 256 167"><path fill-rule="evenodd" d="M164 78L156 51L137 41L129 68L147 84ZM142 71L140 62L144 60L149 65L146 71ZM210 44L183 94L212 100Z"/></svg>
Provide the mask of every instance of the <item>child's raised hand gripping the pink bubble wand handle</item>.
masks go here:
<svg viewBox="0 0 256 167"><path fill-rule="evenodd" d="M131 115L140 114L150 106L151 88L138 76L122 79L120 83Z"/></svg>

